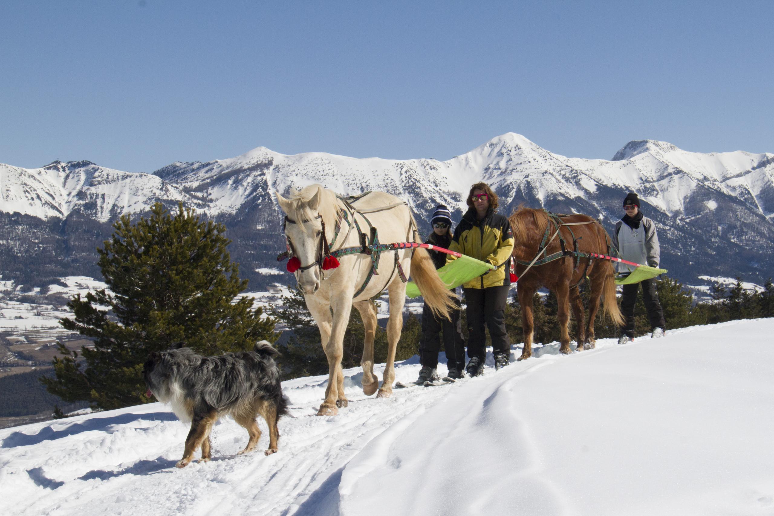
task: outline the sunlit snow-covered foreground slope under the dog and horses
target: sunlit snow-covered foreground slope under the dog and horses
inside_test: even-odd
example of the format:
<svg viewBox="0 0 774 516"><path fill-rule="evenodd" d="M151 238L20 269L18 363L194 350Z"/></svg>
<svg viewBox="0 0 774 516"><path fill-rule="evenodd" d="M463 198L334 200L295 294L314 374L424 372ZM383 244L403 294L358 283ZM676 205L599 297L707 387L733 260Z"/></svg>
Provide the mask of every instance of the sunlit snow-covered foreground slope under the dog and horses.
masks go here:
<svg viewBox="0 0 774 516"><path fill-rule="evenodd" d="M2 429L0 513L772 514L772 332L746 320L570 356L537 346L389 399L366 398L351 369L333 417L313 415L327 377L297 378L279 453L235 455L247 433L225 419L213 460L183 470L187 427L158 403Z"/></svg>

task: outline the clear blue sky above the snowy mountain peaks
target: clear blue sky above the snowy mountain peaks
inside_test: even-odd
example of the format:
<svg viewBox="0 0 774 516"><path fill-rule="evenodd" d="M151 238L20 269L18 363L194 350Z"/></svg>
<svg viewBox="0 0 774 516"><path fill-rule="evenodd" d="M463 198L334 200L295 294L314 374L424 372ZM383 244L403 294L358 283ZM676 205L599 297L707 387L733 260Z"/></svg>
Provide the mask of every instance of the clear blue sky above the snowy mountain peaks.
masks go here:
<svg viewBox="0 0 774 516"><path fill-rule="evenodd" d="M774 152L774 2L0 2L0 162Z"/></svg>

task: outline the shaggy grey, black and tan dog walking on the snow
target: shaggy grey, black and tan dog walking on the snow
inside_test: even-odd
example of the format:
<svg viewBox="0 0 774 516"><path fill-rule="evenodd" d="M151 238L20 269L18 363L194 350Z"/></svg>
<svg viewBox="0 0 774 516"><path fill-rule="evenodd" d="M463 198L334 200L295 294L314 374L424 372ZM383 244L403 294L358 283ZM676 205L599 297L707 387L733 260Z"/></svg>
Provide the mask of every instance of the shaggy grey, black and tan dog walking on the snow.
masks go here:
<svg viewBox="0 0 774 516"><path fill-rule="evenodd" d="M149 355L142 370L148 386L146 394L172 405L180 421L191 424L183 458L176 467L187 466L200 447L199 462L211 459L212 425L224 415L231 415L247 429L248 443L239 454L255 449L261 437L255 422L259 414L269 425L269 449L265 454L276 453L277 421L288 415L289 405L274 362L278 356L279 351L265 340L256 343L252 351L220 357L203 357L189 347Z"/></svg>

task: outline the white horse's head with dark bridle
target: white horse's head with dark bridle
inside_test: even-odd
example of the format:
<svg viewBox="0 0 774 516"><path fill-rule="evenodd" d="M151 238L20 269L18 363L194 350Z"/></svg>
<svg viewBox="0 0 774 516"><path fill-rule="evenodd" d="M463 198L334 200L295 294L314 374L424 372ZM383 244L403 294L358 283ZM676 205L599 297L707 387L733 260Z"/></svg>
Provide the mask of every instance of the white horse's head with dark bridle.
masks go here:
<svg viewBox="0 0 774 516"><path fill-rule="evenodd" d="M298 288L304 294L320 289L323 256L323 218L318 212L323 189L318 187L312 196L304 196L314 190L308 187L286 199L276 192L279 207L285 213L285 235L290 248L290 259L298 258L296 275Z"/></svg>

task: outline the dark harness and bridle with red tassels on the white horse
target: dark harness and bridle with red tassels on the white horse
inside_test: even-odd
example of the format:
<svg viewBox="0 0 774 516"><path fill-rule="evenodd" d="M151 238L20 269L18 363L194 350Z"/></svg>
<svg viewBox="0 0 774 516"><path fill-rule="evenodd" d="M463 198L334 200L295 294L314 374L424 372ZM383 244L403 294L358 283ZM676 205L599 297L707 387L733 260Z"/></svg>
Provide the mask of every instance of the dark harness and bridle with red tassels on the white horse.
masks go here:
<svg viewBox="0 0 774 516"><path fill-rule="evenodd" d="M320 267L321 270L329 270L330 268L337 268L338 267L338 258L341 258L342 256L347 255L368 255L371 257L371 270L368 271L368 275L365 278L365 281L360 286L357 292L354 293L352 296L353 299L360 296L361 292L365 290L365 288L368 286L368 283L371 282L371 279L375 275L379 275L378 271L376 270L379 265L379 258L382 256L382 252L384 251L396 251L395 253L395 265L392 266L392 273L390 274L390 277L388 281L385 283L385 286L383 289L379 290L378 294L376 296L372 297L372 300L378 298L382 295L382 292L387 288L387 285L392 282L392 279L395 277L396 271L398 272L398 275L400 276L400 279L402 282L406 283L409 281L409 279L406 277L406 273L403 272L402 265L400 265L400 260L398 258L398 251L399 248L394 247L392 244L382 244L379 242L378 237L378 230L377 228L371 224L371 220L368 220L368 217L365 216L365 214L375 213L377 211L383 211L383 210L389 210L390 208L394 208L401 205L408 206L408 203L401 202L401 203L395 203L390 204L389 206L385 207L378 207L378 208L372 208L370 210L358 210L354 206L352 206L352 203L361 200L363 197L367 196L371 192L364 192L361 193L358 196L349 196L349 197L339 197L341 201L344 203L344 206L346 207L345 210L341 210L339 213L339 216L336 220L336 225L334 228L334 237L331 238L330 244L327 241L327 237L325 235L325 221L320 220L320 224L322 224L322 234L320 235L320 244L317 248L317 259L310 263L309 265L300 265L298 268L294 269L293 271L289 272L295 272L295 270L300 271L306 271L309 268L312 268L314 266ZM349 212L351 211L351 217L352 221L349 220ZM360 215L363 220L365 220L366 224L368 224L368 234L365 234L360 227L360 224L358 224L358 220L355 217L355 215ZM314 220L322 219L322 216L317 215L317 217L314 217ZM357 228L358 234L360 236L360 245L359 246L352 246L349 248L340 248L335 251L330 251L330 248L332 248L337 240L337 237L339 235L339 232L341 231L341 220L344 220L349 230L347 231L347 234L342 238L342 241L347 241L349 234L352 231L352 227ZM308 220L302 220L302 222L308 222ZM354 225L353 225L354 223ZM285 219L283 220L283 233L285 232L286 224L296 224L296 220L291 220L287 215L285 216ZM414 226L414 224L412 224ZM412 227L412 231L415 236L416 240L416 227ZM369 238L370 236L370 238ZM281 253L279 256L277 256L277 261L283 261L285 258L293 258L295 256L295 252L293 250L293 244L290 243L287 234L285 235L285 245L286 245L286 251ZM414 253L414 250L412 249L412 255ZM288 265L290 265L288 263ZM326 279L325 275L321 274L322 279Z"/></svg>

